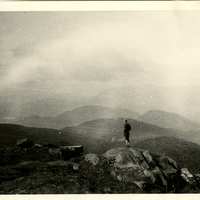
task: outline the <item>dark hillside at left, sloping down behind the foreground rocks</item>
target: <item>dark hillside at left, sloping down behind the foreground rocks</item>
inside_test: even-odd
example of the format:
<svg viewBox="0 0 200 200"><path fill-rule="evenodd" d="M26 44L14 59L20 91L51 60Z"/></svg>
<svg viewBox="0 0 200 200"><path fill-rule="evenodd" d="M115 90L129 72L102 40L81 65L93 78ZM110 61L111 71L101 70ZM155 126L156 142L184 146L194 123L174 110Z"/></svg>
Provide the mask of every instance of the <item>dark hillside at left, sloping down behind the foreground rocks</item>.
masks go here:
<svg viewBox="0 0 200 200"><path fill-rule="evenodd" d="M0 148L16 147L17 140L23 138L28 138L38 144L50 143L57 146L82 144L84 153L103 153L104 149L119 145L113 145L106 138L93 138L91 135L79 134L74 127L68 127L66 130L55 130L16 124L0 124ZM122 142L120 144L122 145Z"/></svg>

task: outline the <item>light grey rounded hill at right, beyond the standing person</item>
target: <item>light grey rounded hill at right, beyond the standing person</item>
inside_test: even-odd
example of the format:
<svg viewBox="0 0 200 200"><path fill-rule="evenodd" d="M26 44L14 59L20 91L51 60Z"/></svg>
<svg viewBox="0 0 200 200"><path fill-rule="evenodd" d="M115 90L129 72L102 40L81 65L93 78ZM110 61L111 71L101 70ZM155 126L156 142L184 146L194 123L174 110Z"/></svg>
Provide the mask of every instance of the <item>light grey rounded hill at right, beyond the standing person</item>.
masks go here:
<svg viewBox="0 0 200 200"><path fill-rule="evenodd" d="M181 115L160 110L151 110L137 118L139 121L153 124L156 126L183 131L199 131L200 124L193 122Z"/></svg>

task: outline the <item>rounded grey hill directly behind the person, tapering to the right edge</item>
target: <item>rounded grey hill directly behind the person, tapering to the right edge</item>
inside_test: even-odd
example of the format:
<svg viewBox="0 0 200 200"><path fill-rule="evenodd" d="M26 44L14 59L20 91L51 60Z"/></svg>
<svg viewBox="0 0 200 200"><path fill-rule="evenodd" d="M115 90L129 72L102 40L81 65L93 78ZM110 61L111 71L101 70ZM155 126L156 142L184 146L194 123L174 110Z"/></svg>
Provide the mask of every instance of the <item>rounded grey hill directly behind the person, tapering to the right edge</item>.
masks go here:
<svg viewBox="0 0 200 200"><path fill-rule="evenodd" d="M132 130L130 138L143 140L158 136L173 136L199 143L199 131L182 131L178 129L163 128L142 121L128 119ZM110 138L112 140L123 139L123 118L96 119L81 123L75 127L66 127L63 130L73 129L78 134L91 135L94 138ZM114 139L113 139L114 138Z"/></svg>

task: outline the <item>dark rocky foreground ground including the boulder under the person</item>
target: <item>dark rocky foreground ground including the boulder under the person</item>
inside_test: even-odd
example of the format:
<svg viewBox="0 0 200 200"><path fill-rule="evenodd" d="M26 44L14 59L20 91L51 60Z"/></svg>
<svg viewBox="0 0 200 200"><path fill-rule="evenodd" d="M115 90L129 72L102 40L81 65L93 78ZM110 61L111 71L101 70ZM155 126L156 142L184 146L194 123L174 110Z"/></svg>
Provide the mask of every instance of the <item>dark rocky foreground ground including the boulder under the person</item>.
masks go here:
<svg viewBox="0 0 200 200"><path fill-rule="evenodd" d="M197 193L199 175L171 158L118 147L83 155L83 147L23 139L0 150L0 194Z"/></svg>

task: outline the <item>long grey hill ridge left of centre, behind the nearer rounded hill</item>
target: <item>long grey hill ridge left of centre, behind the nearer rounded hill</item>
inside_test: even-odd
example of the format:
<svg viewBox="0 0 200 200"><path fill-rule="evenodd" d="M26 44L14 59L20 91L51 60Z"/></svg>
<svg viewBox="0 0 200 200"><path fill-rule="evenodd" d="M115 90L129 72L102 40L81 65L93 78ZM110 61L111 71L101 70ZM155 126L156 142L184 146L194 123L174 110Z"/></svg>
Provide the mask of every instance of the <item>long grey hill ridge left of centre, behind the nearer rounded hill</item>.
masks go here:
<svg viewBox="0 0 200 200"><path fill-rule="evenodd" d="M66 126L74 126L86 121L99 118L132 118L136 119L139 113L121 108L110 108L105 106L88 105L66 111L56 117L41 117L32 115L29 117L20 117L12 120L11 123L17 123L31 127L43 127L61 129Z"/></svg>

